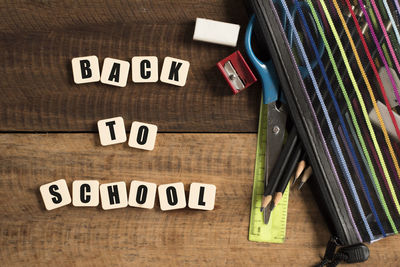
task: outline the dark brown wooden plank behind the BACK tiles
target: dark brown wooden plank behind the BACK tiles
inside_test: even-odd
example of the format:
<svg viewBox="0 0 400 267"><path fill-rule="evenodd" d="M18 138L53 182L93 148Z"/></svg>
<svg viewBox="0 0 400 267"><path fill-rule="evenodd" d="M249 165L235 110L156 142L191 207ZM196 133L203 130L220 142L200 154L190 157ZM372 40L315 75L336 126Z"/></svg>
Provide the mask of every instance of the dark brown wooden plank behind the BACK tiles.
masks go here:
<svg viewBox="0 0 400 267"><path fill-rule="evenodd" d="M161 132L256 132L260 86L233 96L216 63L236 48L192 40L196 17L238 23L242 1L0 1L0 131L95 131L123 116ZM244 54L244 53L243 53ZM157 56L191 63L185 87L76 85L71 59Z"/></svg>

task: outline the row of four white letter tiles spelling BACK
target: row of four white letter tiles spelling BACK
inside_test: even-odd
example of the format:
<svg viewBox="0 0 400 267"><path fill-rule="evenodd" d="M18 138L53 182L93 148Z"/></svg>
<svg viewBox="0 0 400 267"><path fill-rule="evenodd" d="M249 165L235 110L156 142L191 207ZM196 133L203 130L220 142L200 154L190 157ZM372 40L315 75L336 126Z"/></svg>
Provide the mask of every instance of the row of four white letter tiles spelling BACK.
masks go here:
<svg viewBox="0 0 400 267"><path fill-rule="evenodd" d="M158 58L141 56L132 58L132 81L135 83L155 83L158 81ZM176 86L185 86L190 63L186 60L166 57L160 81ZM103 68L99 69L97 56L76 57L72 59L72 73L76 84L101 81L118 87L125 87L128 81L130 63L128 61L105 58Z"/></svg>

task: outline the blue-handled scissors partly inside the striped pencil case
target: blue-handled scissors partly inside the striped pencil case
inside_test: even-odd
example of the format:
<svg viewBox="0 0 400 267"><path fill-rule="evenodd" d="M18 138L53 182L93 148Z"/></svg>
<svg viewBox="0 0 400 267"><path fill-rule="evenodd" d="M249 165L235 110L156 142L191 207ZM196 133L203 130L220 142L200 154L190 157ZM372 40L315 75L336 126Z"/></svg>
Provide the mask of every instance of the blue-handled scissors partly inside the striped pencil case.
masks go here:
<svg viewBox="0 0 400 267"><path fill-rule="evenodd" d="M305 2L300 2L299 7L300 8L305 7L307 12L311 12L308 5ZM290 9L290 13L293 18L296 16L297 11L298 8L295 5ZM252 49L251 37L254 29L254 21L255 21L255 15L252 15L246 29L245 49L251 63L253 64L258 75L261 78L262 90L263 90L263 103L267 104L267 114L268 114L267 142L265 150L266 152L265 152L265 172L264 172L265 185L267 185L270 172L273 166L275 165L279 153L282 149L288 113L286 108L285 97L283 95L283 92L279 90L280 83L277 78L275 66L272 60L269 60L267 62L262 62L260 59L257 58ZM287 17L285 14L282 17L282 26L287 35L289 45L292 46L294 29L292 29L290 25L287 24ZM316 28L315 31L318 36L319 55L322 57L325 50L325 46L323 44L322 37L318 34ZM318 61L316 59L313 60L311 62L311 68L314 69L317 63ZM298 64L298 69L303 79L305 79L309 75L306 67ZM263 210L263 212L264 212L264 223L267 224L270 218L271 209L267 206Z"/></svg>

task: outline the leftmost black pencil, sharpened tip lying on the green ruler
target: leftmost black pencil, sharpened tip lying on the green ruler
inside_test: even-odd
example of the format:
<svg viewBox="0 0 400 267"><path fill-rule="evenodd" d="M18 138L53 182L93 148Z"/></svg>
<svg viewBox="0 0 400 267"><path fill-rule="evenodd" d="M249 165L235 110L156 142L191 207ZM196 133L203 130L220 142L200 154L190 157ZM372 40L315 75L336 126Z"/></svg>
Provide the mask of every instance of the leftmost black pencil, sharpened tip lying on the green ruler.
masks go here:
<svg viewBox="0 0 400 267"><path fill-rule="evenodd" d="M289 162L290 155L293 152L297 140L297 130L296 127L293 125L287 138L286 144L284 145L276 161L276 164L271 171L270 177L268 178L268 183L265 183L264 196L261 202L261 211L263 211L265 207L270 204L272 200L272 194L275 192L275 189L278 186L278 182L283 175L285 166Z"/></svg>

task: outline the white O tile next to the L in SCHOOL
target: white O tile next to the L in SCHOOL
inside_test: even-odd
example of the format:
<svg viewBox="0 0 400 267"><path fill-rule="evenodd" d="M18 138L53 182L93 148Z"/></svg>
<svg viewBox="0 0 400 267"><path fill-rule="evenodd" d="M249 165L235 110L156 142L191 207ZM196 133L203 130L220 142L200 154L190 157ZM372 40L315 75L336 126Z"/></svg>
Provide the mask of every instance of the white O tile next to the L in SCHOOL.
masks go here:
<svg viewBox="0 0 400 267"><path fill-rule="evenodd" d="M186 207L183 183L159 185L158 197L160 199L160 208L163 211L183 209Z"/></svg>

